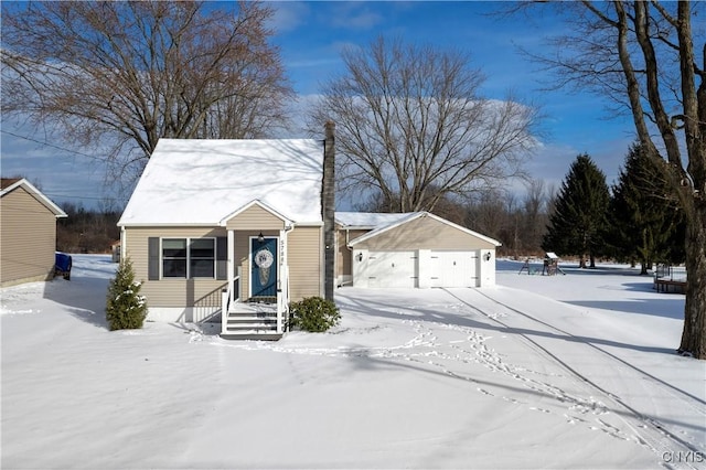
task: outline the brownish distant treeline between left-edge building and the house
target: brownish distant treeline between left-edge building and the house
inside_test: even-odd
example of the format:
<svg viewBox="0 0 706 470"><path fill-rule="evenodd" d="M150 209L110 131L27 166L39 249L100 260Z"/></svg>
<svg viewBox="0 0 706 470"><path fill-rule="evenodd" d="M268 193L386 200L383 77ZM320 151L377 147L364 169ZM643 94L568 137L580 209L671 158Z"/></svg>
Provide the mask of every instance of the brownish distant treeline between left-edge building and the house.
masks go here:
<svg viewBox="0 0 706 470"><path fill-rule="evenodd" d="M109 253L120 238L120 212L89 210L82 204L62 203L68 217L56 223L56 249L65 253Z"/></svg>

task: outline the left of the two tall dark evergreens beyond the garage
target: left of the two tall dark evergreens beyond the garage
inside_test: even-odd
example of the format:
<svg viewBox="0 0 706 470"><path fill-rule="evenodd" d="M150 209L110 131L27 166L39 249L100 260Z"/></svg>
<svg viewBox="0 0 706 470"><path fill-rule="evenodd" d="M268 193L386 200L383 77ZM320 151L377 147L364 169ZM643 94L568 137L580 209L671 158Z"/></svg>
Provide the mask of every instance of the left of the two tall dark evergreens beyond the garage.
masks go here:
<svg viewBox="0 0 706 470"><path fill-rule="evenodd" d="M591 158L579 154L569 169L554 204L542 248L559 256L579 256L579 267L596 267L596 256L606 254L605 238L610 192L606 175Z"/></svg>

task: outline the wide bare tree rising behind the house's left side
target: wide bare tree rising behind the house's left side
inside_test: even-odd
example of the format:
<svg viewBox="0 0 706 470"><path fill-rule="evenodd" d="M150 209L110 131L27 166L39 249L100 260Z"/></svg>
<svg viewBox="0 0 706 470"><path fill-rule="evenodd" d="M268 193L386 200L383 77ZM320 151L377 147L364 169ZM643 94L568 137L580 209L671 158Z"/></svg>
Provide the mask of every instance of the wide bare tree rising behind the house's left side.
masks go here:
<svg viewBox="0 0 706 470"><path fill-rule="evenodd" d="M3 3L3 113L138 163L162 137L261 137L292 95L271 14L249 1Z"/></svg>

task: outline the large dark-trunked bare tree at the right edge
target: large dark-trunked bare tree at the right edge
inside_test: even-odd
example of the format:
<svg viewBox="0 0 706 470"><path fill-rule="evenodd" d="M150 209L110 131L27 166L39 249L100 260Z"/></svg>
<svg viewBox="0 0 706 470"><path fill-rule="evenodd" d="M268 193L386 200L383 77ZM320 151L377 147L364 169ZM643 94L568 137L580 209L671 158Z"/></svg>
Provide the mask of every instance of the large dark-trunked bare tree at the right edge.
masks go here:
<svg viewBox="0 0 706 470"><path fill-rule="evenodd" d="M558 72L559 85L588 87L623 106L678 194L688 276L678 352L706 359L706 44L703 24L698 34L692 30L706 9L656 0L560 8L568 9L571 33L554 40L556 55L538 58Z"/></svg>

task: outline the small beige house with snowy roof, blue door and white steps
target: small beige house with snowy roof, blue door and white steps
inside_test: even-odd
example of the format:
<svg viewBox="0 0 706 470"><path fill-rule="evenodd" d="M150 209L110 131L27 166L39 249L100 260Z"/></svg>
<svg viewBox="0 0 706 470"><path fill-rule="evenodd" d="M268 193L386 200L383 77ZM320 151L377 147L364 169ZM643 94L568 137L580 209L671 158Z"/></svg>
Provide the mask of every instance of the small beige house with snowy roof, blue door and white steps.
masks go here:
<svg viewBox="0 0 706 470"><path fill-rule="evenodd" d="M148 319L281 337L323 297L322 165L321 140L161 139L118 222Z"/></svg>

